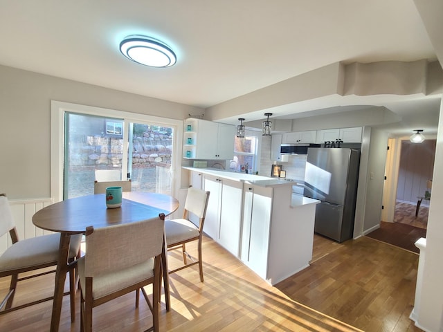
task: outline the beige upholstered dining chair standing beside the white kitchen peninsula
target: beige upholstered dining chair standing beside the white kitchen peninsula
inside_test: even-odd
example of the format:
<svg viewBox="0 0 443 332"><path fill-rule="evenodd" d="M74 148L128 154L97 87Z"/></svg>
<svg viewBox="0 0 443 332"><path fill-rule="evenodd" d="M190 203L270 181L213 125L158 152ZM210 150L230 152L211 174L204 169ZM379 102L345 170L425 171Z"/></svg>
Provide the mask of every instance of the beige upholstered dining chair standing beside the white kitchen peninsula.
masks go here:
<svg viewBox="0 0 443 332"><path fill-rule="evenodd" d="M194 187L188 189L182 219L171 219L165 221L166 245L168 251L181 249L183 255L183 266L170 270L169 274L176 273L183 268L189 268L199 264L200 281L203 282L203 261L201 259L201 238L203 236L203 225L208 208L209 192ZM195 214L199 219L199 225L190 221L190 214ZM186 243L198 241L198 259L195 259L186 251ZM187 257L192 260L188 264ZM166 284L165 280L165 284Z"/></svg>

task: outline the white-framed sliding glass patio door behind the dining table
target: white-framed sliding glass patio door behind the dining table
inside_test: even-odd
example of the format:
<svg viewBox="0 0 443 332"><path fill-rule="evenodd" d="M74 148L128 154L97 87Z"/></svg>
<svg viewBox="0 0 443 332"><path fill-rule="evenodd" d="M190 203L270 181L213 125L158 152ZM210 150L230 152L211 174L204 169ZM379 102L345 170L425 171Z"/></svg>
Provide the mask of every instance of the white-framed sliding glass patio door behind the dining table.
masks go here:
<svg viewBox="0 0 443 332"><path fill-rule="evenodd" d="M177 136L182 122L97 107L52 102L51 196L93 194L98 170L132 179L132 190L178 196ZM98 171L100 172L100 171Z"/></svg>

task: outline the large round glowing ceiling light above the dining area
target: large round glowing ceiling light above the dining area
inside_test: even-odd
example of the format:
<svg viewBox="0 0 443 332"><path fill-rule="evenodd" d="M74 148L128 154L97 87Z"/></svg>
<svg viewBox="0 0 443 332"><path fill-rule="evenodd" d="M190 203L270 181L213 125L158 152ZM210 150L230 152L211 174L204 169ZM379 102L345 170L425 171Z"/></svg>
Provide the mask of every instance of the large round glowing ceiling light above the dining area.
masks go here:
<svg viewBox="0 0 443 332"><path fill-rule="evenodd" d="M120 51L128 59L151 67L170 67L177 61L170 47L157 39L132 35L120 43Z"/></svg>

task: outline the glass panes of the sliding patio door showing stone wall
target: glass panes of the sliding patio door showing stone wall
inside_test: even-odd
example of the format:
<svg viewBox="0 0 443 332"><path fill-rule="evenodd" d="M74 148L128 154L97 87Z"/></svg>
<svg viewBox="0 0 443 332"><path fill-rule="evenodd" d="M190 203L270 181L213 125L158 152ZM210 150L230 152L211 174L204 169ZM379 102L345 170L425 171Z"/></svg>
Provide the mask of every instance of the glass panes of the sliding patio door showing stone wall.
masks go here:
<svg viewBox="0 0 443 332"><path fill-rule="evenodd" d="M173 128L65 113L64 199L93 194L94 181L131 178L132 191L172 194ZM128 154L123 154L129 146ZM100 177L100 178L98 178Z"/></svg>

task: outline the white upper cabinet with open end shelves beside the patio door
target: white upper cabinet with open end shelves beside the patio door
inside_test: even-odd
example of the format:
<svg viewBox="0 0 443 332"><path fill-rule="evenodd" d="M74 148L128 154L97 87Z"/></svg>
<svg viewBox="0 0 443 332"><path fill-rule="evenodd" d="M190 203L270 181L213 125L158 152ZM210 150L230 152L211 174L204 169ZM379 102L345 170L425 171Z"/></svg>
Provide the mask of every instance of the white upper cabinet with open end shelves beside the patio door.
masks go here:
<svg viewBox="0 0 443 332"><path fill-rule="evenodd" d="M233 158L235 126L190 118L183 130L183 158Z"/></svg>

